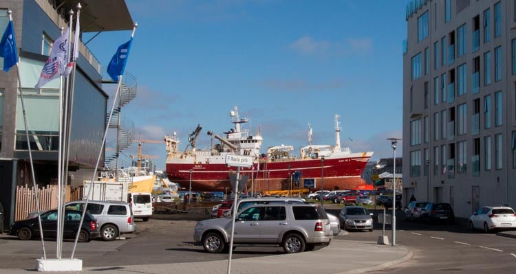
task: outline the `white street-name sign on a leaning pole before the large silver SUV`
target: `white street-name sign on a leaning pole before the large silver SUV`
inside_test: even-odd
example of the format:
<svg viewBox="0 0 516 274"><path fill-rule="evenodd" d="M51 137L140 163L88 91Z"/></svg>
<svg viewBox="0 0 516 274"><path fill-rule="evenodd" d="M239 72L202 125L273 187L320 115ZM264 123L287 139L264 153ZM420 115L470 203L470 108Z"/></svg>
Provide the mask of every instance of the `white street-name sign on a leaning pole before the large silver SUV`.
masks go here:
<svg viewBox="0 0 516 274"><path fill-rule="evenodd" d="M235 201L233 201L233 213L231 214L231 238L229 242L228 274L230 274L231 256L233 255L233 236L235 235L235 218L237 216L238 193L241 191L240 188L244 189L244 187L239 187L238 185L240 181L240 168L250 168L252 166L252 157L228 154L226 155L226 165L237 167L237 179L235 180L235 185L233 185L233 190L235 190ZM247 179L245 181L247 181Z"/></svg>

